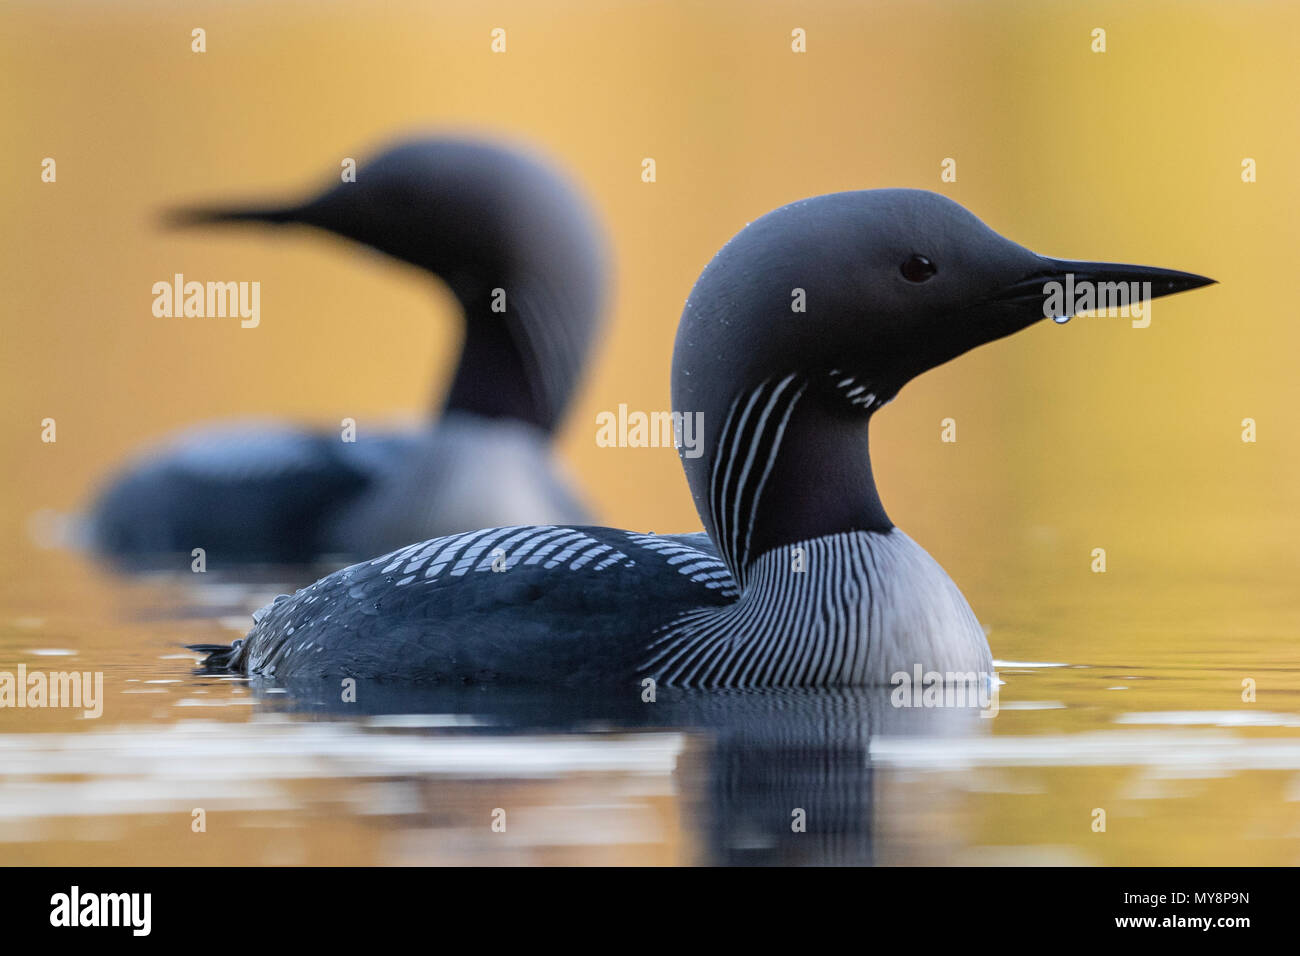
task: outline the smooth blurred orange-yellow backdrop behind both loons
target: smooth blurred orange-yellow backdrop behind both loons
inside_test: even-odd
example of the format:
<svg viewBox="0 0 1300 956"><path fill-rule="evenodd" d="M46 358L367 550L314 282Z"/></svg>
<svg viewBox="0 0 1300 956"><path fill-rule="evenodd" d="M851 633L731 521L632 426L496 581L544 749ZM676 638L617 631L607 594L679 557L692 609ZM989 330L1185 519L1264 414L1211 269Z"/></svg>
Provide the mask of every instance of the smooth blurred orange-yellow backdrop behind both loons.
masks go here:
<svg viewBox="0 0 1300 956"><path fill-rule="evenodd" d="M1300 567L1300 8L9 3L3 17L0 520L14 566L32 511L81 507L174 429L421 412L459 337L437 285L318 235L168 233L157 217L302 194L400 131L471 129L537 143L611 235L608 329L559 447L602 522L698 527L672 451L594 436L620 402L668 406L677 316L712 252L801 196L927 187L1048 255L1221 285L1157 302L1149 329L1044 323L909 386L874 425L890 516L993 626L1015 619L1023 575L1048 588L1039 605L1095 587L1095 546L1112 578L1175 588L1166 624L1204 619L1191 605L1209 593L1234 620L1253 607L1297 623L1290 605L1261 607L1257 585L1290 594ZM46 156L57 183L40 181ZM948 156L958 181L944 185ZM1257 183L1240 179L1244 156ZM151 286L176 272L260 281L261 326L155 319ZM40 442L46 416L56 445ZM939 441L946 416L956 445Z"/></svg>

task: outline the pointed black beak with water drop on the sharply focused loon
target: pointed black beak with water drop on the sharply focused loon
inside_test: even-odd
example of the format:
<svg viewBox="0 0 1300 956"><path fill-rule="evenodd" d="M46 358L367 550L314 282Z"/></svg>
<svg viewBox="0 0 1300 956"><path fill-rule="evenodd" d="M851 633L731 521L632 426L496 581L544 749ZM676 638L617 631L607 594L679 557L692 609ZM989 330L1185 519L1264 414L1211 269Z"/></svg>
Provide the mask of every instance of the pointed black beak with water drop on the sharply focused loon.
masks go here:
<svg viewBox="0 0 1300 956"><path fill-rule="evenodd" d="M1089 287L1087 300L1095 304L1086 311L1102 310L1108 302L1138 304L1214 284L1216 280L1192 272L1157 269L1153 265L1044 258L1043 268L1006 286L997 298L1030 308L1039 307L1040 312L1035 319L1067 319L1076 311L1079 294ZM1117 295L1118 302L1114 298Z"/></svg>

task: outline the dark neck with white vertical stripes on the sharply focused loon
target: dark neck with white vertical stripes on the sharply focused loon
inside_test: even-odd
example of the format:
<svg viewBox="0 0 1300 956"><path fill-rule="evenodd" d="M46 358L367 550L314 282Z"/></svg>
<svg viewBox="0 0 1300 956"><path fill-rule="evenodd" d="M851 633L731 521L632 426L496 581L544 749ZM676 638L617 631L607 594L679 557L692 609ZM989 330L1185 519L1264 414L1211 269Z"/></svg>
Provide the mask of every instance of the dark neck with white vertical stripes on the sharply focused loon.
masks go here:
<svg viewBox="0 0 1300 956"><path fill-rule="evenodd" d="M742 392L707 453L706 527L742 588L776 549L893 528L871 475L870 412L833 385L792 373Z"/></svg>

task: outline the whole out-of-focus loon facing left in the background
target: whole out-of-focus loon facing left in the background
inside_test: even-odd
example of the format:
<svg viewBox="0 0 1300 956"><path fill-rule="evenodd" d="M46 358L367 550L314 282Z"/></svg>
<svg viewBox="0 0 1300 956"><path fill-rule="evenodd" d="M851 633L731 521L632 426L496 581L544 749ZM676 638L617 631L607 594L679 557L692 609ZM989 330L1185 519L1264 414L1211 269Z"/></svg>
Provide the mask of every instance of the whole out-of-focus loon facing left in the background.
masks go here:
<svg viewBox="0 0 1300 956"><path fill-rule="evenodd" d="M433 273L464 311L441 416L422 429L235 424L187 432L103 492L90 545L127 564L352 561L520 522L589 520L552 458L603 307L595 220L543 163L455 138L395 144L302 204L200 208L179 224L304 224Z"/></svg>

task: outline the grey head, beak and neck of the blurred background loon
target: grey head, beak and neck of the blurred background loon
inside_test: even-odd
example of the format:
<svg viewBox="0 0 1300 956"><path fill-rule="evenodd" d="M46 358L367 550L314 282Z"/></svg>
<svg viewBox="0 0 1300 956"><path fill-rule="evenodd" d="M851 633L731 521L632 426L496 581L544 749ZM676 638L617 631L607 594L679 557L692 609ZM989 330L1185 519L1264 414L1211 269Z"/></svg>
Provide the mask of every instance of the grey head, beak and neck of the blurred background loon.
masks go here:
<svg viewBox="0 0 1300 956"><path fill-rule="evenodd" d="M446 410L551 431L606 293L606 243L577 187L524 148L456 137L403 139L339 179L304 202L198 207L172 221L315 226L437 276L465 317Z"/></svg>

